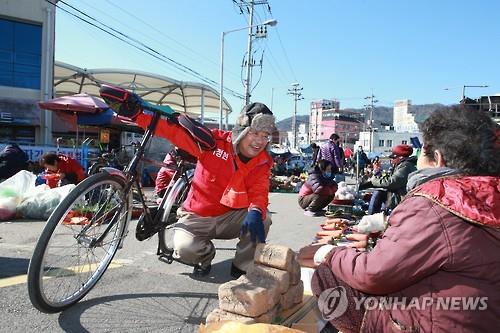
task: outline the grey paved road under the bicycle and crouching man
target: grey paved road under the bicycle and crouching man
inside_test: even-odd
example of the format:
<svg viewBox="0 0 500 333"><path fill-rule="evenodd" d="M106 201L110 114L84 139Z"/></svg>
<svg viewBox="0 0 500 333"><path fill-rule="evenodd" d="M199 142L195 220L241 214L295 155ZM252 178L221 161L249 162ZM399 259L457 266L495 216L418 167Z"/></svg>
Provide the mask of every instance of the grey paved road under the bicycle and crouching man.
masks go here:
<svg viewBox="0 0 500 333"><path fill-rule="evenodd" d="M298 250L310 243L322 218L306 217L297 194L271 193L272 244ZM131 223L131 229L135 227ZM0 223L0 332L196 332L217 306L217 288L229 281L236 241L216 241L210 276L189 277L192 268L167 265L155 255L157 238L144 242L133 233L97 286L77 305L42 314L28 299L25 274L44 222Z"/></svg>

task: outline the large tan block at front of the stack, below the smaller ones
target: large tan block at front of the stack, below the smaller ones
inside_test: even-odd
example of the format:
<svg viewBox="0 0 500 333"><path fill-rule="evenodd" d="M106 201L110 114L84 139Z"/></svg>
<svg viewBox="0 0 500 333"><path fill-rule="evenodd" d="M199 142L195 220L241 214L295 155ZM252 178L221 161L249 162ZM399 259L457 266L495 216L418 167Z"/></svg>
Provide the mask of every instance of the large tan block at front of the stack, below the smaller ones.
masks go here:
<svg viewBox="0 0 500 333"><path fill-rule="evenodd" d="M219 308L243 316L258 317L279 301L279 287L269 279L250 281L242 275L219 286Z"/></svg>

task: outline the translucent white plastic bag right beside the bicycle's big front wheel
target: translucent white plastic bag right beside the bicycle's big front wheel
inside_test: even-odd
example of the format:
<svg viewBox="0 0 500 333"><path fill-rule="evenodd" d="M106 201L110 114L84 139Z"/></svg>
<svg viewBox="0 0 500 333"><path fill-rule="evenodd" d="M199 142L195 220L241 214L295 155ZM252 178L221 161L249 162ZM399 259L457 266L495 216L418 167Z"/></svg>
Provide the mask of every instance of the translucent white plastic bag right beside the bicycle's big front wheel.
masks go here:
<svg viewBox="0 0 500 333"><path fill-rule="evenodd" d="M47 185L37 186L36 190L18 205L17 214L24 218L47 220L57 205L75 187L74 184L56 188L49 188Z"/></svg>

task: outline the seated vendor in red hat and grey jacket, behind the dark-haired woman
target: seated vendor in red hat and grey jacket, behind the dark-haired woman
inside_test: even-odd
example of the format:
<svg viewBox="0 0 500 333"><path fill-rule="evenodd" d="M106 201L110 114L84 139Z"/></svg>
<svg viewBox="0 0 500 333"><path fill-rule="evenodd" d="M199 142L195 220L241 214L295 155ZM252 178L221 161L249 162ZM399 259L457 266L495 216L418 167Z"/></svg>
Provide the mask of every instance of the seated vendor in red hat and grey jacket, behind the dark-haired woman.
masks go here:
<svg viewBox="0 0 500 333"><path fill-rule="evenodd" d="M417 170L417 157L411 156L413 148L408 145L397 145L392 149L392 172L387 176L373 176L361 183L359 189L380 188L373 193L368 207L368 214L380 213L382 209L390 213L401 202L406 194L408 175Z"/></svg>

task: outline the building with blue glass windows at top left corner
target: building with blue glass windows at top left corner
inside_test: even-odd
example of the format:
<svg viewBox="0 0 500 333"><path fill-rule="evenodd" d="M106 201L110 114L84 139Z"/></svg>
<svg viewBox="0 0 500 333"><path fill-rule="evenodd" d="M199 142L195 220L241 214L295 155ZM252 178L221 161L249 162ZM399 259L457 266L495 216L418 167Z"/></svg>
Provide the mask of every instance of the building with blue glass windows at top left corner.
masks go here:
<svg viewBox="0 0 500 333"><path fill-rule="evenodd" d="M0 1L0 143L52 144L55 7L44 0Z"/></svg>

